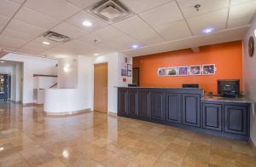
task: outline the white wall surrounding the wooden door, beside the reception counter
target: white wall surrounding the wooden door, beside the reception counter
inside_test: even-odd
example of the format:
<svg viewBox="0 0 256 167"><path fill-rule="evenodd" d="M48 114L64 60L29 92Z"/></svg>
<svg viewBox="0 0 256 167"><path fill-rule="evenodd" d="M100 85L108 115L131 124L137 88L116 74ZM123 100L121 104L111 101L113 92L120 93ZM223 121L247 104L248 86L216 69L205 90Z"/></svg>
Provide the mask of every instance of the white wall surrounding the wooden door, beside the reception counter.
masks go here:
<svg viewBox="0 0 256 167"><path fill-rule="evenodd" d="M91 108L93 109L93 85L94 85L94 64L108 62L108 112L117 113L117 88L118 86L127 86L131 83L131 78L121 77L121 63L125 62L125 55L112 53L94 57L91 65ZM128 59L131 63L131 58ZM127 78L124 83L123 78Z"/></svg>

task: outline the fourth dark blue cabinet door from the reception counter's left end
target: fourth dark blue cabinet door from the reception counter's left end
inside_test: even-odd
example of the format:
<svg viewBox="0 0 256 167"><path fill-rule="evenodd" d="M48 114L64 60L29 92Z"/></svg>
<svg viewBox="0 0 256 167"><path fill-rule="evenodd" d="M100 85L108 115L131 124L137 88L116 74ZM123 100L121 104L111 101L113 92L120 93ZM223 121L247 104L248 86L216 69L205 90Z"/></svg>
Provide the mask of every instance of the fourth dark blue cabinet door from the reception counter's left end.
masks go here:
<svg viewBox="0 0 256 167"><path fill-rule="evenodd" d="M151 118L165 120L165 92L150 91Z"/></svg>

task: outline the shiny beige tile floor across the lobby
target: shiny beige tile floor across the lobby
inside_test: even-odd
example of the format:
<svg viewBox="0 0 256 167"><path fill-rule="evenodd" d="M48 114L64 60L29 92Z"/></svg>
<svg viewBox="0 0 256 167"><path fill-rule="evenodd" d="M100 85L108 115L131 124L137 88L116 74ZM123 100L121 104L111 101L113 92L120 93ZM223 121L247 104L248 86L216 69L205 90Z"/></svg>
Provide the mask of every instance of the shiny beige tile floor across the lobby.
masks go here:
<svg viewBox="0 0 256 167"><path fill-rule="evenodd" d="M0 166L256 166L243 141L90 112L0 104Z"/></svg>

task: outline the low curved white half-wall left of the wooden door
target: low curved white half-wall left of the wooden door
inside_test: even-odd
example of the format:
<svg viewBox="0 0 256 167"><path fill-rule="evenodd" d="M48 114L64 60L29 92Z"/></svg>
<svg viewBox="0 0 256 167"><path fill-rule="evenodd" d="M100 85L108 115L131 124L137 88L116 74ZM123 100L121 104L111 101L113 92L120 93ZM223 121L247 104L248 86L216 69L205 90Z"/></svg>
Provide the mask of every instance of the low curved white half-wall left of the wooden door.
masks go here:
<svg viewBox="0 0 256 167"><path fill-rule="evenodd" d="M79 89L45 89L44 112L47 115L65 115L81 111Z"/></svg>

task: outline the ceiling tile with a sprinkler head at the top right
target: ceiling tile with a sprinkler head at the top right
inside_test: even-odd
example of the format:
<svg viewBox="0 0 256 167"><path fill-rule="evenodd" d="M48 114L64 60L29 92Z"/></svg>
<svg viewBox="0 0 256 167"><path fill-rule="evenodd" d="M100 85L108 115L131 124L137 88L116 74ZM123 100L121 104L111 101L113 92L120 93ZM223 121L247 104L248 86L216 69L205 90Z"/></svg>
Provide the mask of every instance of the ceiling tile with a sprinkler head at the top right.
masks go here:
<svg viewBox="0 0 256 167"><path fill-rule="evenodd" d="M216 9L227 8L230 0L177 0L185 18L194 17L196 15L205 14ZM195 9L196 4L201 4L198 11Z"/></svg>

